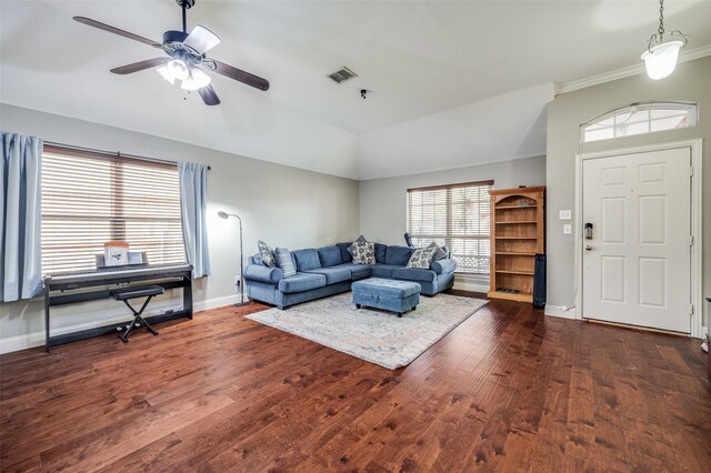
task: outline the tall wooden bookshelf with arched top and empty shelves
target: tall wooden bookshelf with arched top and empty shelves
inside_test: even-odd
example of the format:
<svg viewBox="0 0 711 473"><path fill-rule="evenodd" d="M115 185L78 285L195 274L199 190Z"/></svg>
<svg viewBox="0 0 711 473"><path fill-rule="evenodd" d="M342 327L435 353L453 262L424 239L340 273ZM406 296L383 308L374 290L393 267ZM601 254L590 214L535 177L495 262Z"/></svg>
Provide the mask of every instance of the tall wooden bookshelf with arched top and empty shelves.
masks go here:
<svg viewBox="0 0 711 473"><path fill-rule="evenodd" d="M489 298L533 301L535 253L543 253L545 188L500 189L491 194Z"/></svg>

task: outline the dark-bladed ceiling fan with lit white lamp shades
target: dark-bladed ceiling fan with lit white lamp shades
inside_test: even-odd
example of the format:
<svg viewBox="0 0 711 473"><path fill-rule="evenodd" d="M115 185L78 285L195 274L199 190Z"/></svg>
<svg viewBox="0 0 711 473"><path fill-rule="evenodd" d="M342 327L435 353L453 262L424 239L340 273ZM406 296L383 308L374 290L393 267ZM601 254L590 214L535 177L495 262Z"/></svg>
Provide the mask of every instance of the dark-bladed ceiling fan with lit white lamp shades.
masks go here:
<svg viewBox="0 0 711 473"><path fill-rule="evenodd" d="M182 31L166 31L163 42L158 43L148 38L130 33L128 31L111 27L100 21L86 17L74 17L76 21L98 28L110 33L119 34L153 48L162 49L168 57L147 59L132 64L121 66L111 69L116 74L130 74L144 69L158 68L157 71L171 84L180 82L183 90L197 90L202 101L208 105L217 105L220 99L214 89L210 85L210 76L203 69L234 79L239 82L254 87L260 90L269 89L269 81L237 69L232 66L206 57L206 53L220 43L220 38L204 27L197 26L190 34L187 32L187 10L194 6L196 0L176 0L182 8Z"/></svg>

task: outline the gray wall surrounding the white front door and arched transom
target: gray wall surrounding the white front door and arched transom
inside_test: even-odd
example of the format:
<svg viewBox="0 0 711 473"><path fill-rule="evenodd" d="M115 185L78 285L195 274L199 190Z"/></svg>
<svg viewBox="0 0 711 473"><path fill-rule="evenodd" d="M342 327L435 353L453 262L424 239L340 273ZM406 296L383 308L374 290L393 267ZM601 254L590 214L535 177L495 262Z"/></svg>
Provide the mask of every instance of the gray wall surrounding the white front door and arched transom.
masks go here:
<svg viewBox="0 0 711 473"><path fill-rule="evenodd" d="M607 82L560 94L548 107L548 155L545 163L548 302L574 305L573 236L564 235L558 211L574 208L575 154L642 144L703 139L703 279L704 295L711 295L711 57L684 62L668 79L653 81L645 74ZM690 101L699 103L699 124L640 137L580 144L579 125L608 111L634 102ZM705 310L705 309L704 309ZM708 320L708 319L704 319Z"/></svg>

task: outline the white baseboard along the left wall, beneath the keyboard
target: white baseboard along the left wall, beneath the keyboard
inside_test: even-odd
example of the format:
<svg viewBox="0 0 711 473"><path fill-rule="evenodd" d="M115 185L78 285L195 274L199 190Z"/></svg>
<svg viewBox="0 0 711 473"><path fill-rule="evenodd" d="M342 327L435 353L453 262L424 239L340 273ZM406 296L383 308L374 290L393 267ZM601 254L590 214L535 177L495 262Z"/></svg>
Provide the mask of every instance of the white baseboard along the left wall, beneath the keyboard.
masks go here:
<svg viewBox="0 0 711 473"><path fill-rule="evenodd" d="M197 301L193 304L193 312L207 311L210 309L221 308L223 305L230 305L239 300L239 294L227 295L223 298L208 299L204 301ZM182 299L173 299L169 301L160 301L152 303L149 315L157 315L163 313L169 309L179 310L182 306ZM64 333L80 332L82 330L97 329L99 326L111 325L127 321L124 311L104 311L102 312L101 320L74 324L70 326L61 326L52 329L53 335L62 335ZM109 315L109 316L107 316ZM0 339L0 354L17 352L19 350L32 349L34 346L42 346L44 344L44 332L27 333L24 335L9 336L7 339Z"/></svg>

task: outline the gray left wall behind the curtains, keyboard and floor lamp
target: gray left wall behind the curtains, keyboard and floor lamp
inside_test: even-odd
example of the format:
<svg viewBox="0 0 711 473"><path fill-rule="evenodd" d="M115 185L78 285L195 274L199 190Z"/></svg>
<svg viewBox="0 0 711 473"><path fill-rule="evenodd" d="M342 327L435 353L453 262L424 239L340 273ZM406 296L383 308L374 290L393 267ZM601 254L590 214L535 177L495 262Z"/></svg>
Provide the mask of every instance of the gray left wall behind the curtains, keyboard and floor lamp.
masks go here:
<svg viewBox="0 0 711 473"><path fill-rule="evenodd" d="M359 234L358 218L353 217L359 214L359 185L354 180L7 104L0 104L0 128L64 144L210 164L208 228L212 275L193 284L198 306L226 305L236 293L238 225L236 220L219 219L218 210L242 218L246 255L257 252L258 239L272 246L298 249L332 244ZM99 311L102 316L126 311L112 301L87 304L81 311L77 306L59 309L58 326L91 325ZM37 339L43 330L41 311L39 299L0 303L0 340L33 333Z"/></svg>

